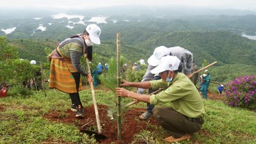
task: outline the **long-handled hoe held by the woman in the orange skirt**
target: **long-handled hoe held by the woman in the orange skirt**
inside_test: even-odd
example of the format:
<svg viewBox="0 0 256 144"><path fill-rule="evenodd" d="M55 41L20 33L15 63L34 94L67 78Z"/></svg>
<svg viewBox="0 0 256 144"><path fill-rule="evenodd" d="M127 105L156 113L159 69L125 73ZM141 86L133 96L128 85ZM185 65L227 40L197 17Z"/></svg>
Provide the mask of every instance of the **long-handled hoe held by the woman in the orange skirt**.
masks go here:
<svg viewBox="0 0 256 144"><path fill-rule="evenodd" d="M89 65L89 61L88 61L87 58L86 58L86 65L87 65L87 68L88 68L88 74L91 74L90 65ZM92 82L90 83L90 86L91 86L91 90L92 90L92 99L93 99L93 105L94 105L94 110L95 110L95 116L96 116L98 132L88 131L88 130L86 130L84 128L90 122L87 123L87 124L84 124L82 127L80 127L80 132L84 132L84 133L86 133L86 134L88 134L90 136L92 136L94 134L94 136L96 138L106 138L106 136L101 134L102 133L102 128L101 128L101 125L100 125L99 111L98 111L97 101L96 101L96 98L95 98L95 92L94 92L94 88L93 88L93 83Z"/></svg>

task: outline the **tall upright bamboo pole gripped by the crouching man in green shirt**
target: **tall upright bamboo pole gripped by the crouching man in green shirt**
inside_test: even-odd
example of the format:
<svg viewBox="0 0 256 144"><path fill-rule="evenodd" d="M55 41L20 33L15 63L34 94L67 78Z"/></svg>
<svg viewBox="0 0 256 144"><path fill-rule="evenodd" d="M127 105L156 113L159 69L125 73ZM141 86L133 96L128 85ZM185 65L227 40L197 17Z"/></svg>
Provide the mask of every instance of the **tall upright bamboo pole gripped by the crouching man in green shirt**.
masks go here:
<svg viewBox="0 0 256 144"><path fill-rule="evenodd" d="M121 81L121 77L120 77L120 33L116 33L116 57L117 57L117 65L116 65L116 69L117 69L117 87L120 87L120 81ZM120 97L117 97L117 139L121 140L121 99Z"/></svg>

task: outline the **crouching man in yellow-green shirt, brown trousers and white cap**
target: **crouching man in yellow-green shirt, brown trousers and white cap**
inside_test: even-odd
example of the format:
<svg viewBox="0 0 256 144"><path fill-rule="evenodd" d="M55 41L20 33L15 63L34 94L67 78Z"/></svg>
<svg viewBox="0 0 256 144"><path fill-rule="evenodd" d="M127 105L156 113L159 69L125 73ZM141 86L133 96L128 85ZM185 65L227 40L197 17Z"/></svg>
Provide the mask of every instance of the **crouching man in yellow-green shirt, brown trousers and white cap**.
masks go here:
<svg viewBox="0 0 256 144"><path fill-rule="evenodd" d="M166 88L156 95L143 95L124 88L116 88L116 95L119 97L131 97L154 105L170 102L170 107L159 106L153 109L157 122L170 133L170 136L164 139L168 142L186 140L204 124L205 110L200 93L186 75L178 72L179 63L180 60L176 56L164 56L159 65L151 70L152 74L159 73L161 79L140 83L123 80L121 84L153 90Z"/></svg>

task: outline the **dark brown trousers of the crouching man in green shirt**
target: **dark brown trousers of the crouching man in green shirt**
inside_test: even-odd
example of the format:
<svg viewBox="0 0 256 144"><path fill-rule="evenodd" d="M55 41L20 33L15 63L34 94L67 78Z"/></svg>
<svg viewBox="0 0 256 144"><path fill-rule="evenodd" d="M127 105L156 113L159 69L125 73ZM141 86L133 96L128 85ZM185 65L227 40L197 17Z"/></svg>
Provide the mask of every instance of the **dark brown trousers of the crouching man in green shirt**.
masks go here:
<svg viewBox="0 0 256 144"><path fill-rule="evenodd" d="M188 118L172 108L155 107L153 115L157 122L174 138L198 132L204 124L204 120L201 118Z"/></svg>

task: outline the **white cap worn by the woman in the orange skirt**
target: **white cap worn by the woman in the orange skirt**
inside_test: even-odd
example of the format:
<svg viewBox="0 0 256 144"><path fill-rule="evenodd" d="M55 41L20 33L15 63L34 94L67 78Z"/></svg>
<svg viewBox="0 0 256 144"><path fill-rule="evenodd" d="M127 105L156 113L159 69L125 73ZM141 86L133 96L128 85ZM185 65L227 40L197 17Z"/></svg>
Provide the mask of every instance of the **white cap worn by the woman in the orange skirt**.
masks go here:
<svg viewBox="0 0 256 144"><path fill-rule="evenodd" d="M86 31L89 33L90 40L93 44L100 44L101 29L96 24L89 24L86 27Z"/></svg>

